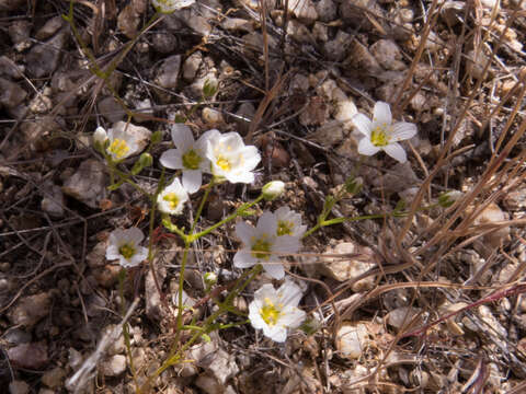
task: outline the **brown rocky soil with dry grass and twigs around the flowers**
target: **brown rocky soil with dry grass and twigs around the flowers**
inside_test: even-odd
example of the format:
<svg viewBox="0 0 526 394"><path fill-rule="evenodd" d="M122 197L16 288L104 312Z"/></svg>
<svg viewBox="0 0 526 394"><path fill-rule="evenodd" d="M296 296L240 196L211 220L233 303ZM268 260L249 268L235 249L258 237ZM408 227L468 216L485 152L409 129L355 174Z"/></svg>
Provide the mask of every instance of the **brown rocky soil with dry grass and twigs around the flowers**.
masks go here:
<svg viewBox="0 0 526 394"><path fill-rule="evenodd" d="M152 392L526 392L526 1L197 0L146 31L148 0L78 1L72 23L69 10L0 0L0 392L135 393L119 324L134 300L135 380L160 367L182 244L157 240L161 293L142 266L122 299L107 235L147 232L149 207L107 188L92 135L128 120L145 140L161 131L135 176L152 190L178 119L238 131L263 157L254 184L214 190L203 227L271 179L287 192L259 212L286 204L309 228L348 176L363 189L331 218L403 215L324 228L288 257L311 332L284 345L250 324L215 332ZM377 101L418 126L403 164L357 153L352 118ZM464 197L445 208L448 190ZM195 245L185 305L197 322L214 311L203 274L229 283L238 247L233 225Z"/></svg>

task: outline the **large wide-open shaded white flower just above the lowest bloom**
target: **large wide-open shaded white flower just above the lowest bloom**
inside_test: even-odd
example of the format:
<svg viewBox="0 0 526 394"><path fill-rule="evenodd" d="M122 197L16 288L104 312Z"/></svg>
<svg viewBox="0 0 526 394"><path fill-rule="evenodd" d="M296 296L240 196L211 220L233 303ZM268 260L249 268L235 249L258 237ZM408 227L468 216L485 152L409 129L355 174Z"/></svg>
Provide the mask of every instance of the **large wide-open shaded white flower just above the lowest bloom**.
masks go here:
<svg viewBox="0 0 526 394"><path fill-rule="evenodd" d="M268 211L263 212L255 229L245 222L236 224L236 235L243 243L243 248L233 256L233 266L248 268L261 263L264 270L274 279L282 279L285 276L278 255L296 253L300 248L298 237L277 236L277 218Z"/></svg>

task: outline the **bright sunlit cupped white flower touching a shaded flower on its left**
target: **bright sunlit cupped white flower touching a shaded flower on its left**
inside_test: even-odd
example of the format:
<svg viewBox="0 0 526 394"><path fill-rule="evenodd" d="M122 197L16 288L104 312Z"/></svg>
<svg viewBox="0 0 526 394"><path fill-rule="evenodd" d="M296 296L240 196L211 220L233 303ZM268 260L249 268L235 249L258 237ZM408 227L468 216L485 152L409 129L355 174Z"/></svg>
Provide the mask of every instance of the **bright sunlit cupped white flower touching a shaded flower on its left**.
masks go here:
<svg viewBox="0 0 526 394"><path fill-rule="evenodd" d="M208 138L206 157L211 162L211 173L226 177L231 183L252 183L255 169L261 161L258 148L245 147L237 132L215 135Z"/></svg>

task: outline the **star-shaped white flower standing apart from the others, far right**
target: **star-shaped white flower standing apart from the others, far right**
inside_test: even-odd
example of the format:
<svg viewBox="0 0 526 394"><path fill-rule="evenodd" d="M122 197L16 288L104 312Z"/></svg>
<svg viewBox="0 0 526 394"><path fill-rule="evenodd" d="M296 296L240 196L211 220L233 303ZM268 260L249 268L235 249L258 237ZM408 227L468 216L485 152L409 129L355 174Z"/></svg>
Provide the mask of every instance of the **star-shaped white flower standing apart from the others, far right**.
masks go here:
<svg viewBox="0 0 526 394"><path fill-rule="evenodd" d="M416 126L405 121L392 124L389 104L375 104L373 121L364 114L357 114L353 117L353 123L365 136L358 143L358 153L373 155L382 150L400 163L408 160L405 151L398 142L416 135Z"/></svg>

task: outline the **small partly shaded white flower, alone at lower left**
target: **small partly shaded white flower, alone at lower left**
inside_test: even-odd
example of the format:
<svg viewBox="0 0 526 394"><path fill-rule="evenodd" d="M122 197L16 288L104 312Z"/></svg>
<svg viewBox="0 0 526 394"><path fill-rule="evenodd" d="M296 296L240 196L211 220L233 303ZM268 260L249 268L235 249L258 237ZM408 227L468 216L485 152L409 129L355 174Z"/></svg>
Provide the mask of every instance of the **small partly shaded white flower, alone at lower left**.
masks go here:
<svg viewBox="0 0 526 394"><path fill-rule="evenodd" d="M135 267L148 258L148 248L139 246L145 234L138 228L114 230L106 248L108 260L118 259L123 267Z"/></svg>

